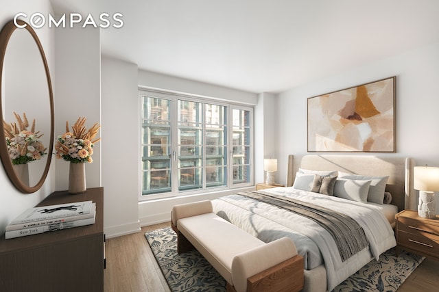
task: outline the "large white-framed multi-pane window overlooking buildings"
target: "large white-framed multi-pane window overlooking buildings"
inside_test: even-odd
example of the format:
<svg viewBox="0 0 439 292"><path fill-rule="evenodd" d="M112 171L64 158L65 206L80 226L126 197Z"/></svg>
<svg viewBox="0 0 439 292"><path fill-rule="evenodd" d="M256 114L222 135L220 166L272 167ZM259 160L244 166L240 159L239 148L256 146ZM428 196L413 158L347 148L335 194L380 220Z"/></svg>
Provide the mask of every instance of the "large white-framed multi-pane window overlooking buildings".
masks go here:
<svg viewBox="0 0 439 292"><path fill-rule="evenodd" d="M252 185L252 108L141 91L141 199Z"/></svg>

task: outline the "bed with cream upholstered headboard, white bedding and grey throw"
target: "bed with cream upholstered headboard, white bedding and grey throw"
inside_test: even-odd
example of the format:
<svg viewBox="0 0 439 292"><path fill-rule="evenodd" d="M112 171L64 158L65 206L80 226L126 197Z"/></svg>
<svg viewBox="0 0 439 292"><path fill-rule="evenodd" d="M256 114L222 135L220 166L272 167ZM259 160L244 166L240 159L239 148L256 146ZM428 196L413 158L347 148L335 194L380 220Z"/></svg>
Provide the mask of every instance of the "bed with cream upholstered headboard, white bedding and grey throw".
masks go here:
<svg viewBox="0 0 439 292"><path fill-rule="evenodd" d="M396 245L392 230L394 215L402 209L413 209L416 206L412 187L413 165L414 161L405 157L289 155L287 187L217 198L212 201L213 210L262 241L270 242L280 237L293 239L298 253L305 260L304 291L331 291L372 258L378 258L379 254ZM367 198L370 196L373 180L366 179L370 176L386 177L384 185L382 181L380 184L384 192L391 194L390 204L365 201L365 194ZM345 184L350 185L346 189L354 188L354 193L361 193L361 198L340 197L338 194L327 196L319 194L316 189L310 191L303 187L303 182L309 183L311 177L317 181L320 178L320 183L325 181L325 186L329 181L333 182L333 191L337 189L338 194L342 193ZM313 182L311 187L316 187L316 183ZM351 191L346 194L350 196ZM307 211L296 209L297 204L304 205ZM309 217L309 212L314 215ZM323 212L324 215L315 215L316 212ZM337 221L340 220L340 214L343 218L347 217L343 220L355 220L348 221L346 228L355 230L357 235L338 230L338 226L345 225L344 221ZM314 217L324 217L326 223ZM333 236L333 233L340 233L337 236L344 237L340 239ZM345 241L354 241L352 238L356 240L357 237L366 239L346 246Z"/></svg>

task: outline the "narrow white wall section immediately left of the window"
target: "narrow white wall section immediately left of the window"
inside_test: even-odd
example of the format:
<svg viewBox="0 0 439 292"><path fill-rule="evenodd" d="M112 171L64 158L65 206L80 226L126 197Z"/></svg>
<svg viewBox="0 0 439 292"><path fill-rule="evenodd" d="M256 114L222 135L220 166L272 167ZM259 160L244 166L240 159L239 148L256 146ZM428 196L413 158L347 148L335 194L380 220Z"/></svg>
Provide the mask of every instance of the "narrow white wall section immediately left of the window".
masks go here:
<svg viewBox="0 0 439 292"><path fill-rule="evenodd" d="M102 57L102 185L108 237L139 230L137 65Z"/></svg>

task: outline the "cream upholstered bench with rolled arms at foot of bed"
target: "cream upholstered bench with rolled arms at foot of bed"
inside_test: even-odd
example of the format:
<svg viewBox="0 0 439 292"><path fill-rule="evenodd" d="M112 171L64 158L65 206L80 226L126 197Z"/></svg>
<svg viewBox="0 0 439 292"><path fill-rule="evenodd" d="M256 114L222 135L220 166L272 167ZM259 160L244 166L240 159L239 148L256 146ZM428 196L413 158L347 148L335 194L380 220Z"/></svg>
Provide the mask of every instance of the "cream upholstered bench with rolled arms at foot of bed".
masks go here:
<svg viewBox="0 0 439 292"><path fill-rule="evenodd" d="M196 248L223 276L227 291L299 291L303 258L287 237L264 243L215 215L210 201L172 208L178 253Z"/></svg>

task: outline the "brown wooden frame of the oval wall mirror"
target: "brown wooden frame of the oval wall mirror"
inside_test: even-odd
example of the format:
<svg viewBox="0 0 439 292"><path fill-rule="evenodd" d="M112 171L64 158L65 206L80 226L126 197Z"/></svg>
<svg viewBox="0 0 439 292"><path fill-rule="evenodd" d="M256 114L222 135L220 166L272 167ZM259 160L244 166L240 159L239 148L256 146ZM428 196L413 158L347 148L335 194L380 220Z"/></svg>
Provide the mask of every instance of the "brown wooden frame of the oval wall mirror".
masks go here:
<svg viewBox="0 0 439 292"><path fill-rule="evenodd" d="M40 189L40 187L45 182L47 174L49 173L49 167L50 167L51 158L53 155L52 151L54 149L54 127L55 127L54 94L52 92L52 83L51 83L51 79L50 79L49 66L47 65L47 59L46 59L46 56L45 56L45 53L43 50L43 46L41 45L41 42L40 42L38 36L36 35L36 32L25 21L21 21L21 20L17 19L16 23L18 23L19 25L26 25L24 28L21 28L21 29L26 29L29 32L29 34L31 34L32 38L34 38L34 41L38 47L38 50L40 51L40 56L41 56L41 59L43 60L43 64L45 67L47 88L49 91L49 105L50 105L50 137L49 137L49 139L50 140L49 140L49 147L47 147L47 161L46 161L46 165L45 165L45 169L43 171L43 174L41 175L41 178L38 181L38 183L36 183L36 185L34 185L34 186L30 186L30 185L26 185L25 183L23 183L21 181L21 179L19 178L19 176L17 176L17 174L14 170L14 165L12 165L12 161L11 161L9 153L8 153L8 148L6 147L6 142L5 142L6 137L5 137L4 127L3 127L3 105L1 103L2 96L1 96L1 89L0 89L0 157L1 157L1 163L3 163L3 167L5 168L5 172L6 172L6 174L8 174L8 177L9 177L10 181L14 184L14 186L17 189L19 189L19 191L21 191L22 193L30 194L30 193L34 193L35 191L38 191L38 189ZM16 27L16 25L14 24L14 21L9 21L8 23L6 23L6 25L3 27L3 29L0 32L0 88L1 88L1 82L2 82L1 76L3 75L3 63L5 60L6 49L8 47L8 42L10 40L10 37L12 36L12 34L14 33L14 31L16 29L18 29L18 27ZM4 141L4 142L2 143L2 141Z"/></svg>

